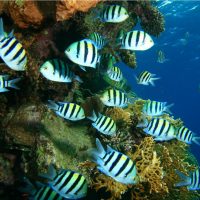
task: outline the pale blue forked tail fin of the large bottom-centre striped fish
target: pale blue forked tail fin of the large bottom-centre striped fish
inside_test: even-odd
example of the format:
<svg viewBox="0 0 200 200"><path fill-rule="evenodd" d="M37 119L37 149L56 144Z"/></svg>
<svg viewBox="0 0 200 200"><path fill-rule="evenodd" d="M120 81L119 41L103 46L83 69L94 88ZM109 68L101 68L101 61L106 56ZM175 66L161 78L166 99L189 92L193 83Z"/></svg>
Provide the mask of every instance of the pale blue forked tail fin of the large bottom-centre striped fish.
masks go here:
<svg viewBox="0 0 200 200"><path fill-rule="evenodd" d="M89 150L89 156L94 162L100 163L101 158L103 158L106 154L104 147L102 146L100 140L96 138L96 146L97 148L93 148Z"/></svg>

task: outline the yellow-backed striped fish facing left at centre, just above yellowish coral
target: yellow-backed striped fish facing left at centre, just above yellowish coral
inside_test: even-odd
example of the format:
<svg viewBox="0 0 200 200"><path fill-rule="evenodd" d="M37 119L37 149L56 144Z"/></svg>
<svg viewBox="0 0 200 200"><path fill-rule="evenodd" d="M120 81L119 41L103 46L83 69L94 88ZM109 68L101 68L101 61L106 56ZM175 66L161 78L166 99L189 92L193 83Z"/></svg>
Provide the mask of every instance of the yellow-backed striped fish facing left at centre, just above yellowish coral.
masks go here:
<svg viewBox="0 0 200 200"><path fill-rule="evenodd" d="M127 95L117 89L106 90L100 99L106 106L116 106L123 108L126 107L129 103Z"/></svg>

